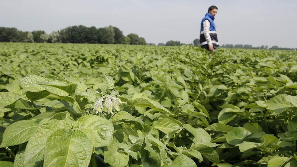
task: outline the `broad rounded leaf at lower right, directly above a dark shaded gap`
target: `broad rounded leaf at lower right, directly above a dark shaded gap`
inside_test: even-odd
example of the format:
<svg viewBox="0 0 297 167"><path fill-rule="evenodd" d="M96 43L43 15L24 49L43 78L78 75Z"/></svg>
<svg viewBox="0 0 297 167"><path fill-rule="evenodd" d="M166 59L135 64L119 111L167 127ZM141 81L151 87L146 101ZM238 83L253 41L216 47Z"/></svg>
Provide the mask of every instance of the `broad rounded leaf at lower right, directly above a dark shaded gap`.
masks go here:
<svg viewBox="0 0 297 167"><path fill-rule="evenodd" d="M237 144L240 144L241 141L243 141L243 139L250 134L251 132L248 131L247 129L242 127L237 127L237 128L234 128L229 133L225 134L225 137L228 144L237 145Z"/></svg>

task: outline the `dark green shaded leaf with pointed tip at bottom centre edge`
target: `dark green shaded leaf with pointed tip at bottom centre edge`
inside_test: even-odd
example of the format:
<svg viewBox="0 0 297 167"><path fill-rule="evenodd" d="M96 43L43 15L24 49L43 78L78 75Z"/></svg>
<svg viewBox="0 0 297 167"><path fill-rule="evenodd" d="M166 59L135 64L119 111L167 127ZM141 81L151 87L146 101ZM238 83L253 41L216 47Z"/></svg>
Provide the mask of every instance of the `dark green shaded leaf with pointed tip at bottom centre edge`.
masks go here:
<svg viewBox="0 0 297 167"><path fill-rule="evenodd" d="M162 164L158 153L152 149L152 144L145 139L140 150L141 163L143 167L160 167Z"/></svg>

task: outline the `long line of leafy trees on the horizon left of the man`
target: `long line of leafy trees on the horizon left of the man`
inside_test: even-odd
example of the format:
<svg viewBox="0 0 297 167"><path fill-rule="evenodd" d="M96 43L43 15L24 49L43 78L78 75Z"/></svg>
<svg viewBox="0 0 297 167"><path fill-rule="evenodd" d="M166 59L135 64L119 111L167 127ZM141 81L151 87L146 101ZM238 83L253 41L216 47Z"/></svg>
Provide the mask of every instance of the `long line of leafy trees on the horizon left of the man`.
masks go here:
<svg viewBox="0 0 297 167"><path fill-rule="evenodd" d="M43 30L24 32L16 28L0 27L0 42L146 45L145 38L139 37L135 33L125 36L118 27L108 26L97 29L95 26L86 27L83 25L69 26L50 34Z"/></svg>

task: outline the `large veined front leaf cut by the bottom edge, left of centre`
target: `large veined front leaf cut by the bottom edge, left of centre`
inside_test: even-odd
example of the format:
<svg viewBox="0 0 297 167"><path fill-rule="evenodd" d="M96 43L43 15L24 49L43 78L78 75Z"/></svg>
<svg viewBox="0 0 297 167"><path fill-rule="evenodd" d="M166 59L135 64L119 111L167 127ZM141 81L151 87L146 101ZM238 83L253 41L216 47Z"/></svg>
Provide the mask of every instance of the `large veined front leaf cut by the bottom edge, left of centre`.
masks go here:
<svg viewBox="0 0 297 167"><path fill-rule="evenodd" d="M81 131L61 129L46 141L44 166L88 166L93 147Z"/></svg>

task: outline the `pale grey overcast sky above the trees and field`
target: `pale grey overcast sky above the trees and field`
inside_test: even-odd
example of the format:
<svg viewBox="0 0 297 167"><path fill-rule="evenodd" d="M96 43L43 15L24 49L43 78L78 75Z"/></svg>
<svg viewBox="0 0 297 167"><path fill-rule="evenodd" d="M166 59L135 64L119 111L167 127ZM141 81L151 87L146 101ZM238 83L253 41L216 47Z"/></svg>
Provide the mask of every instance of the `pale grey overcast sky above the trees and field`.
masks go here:
<svg viewBox="0 0 297 167"><path fill-rule="evenodd" d="M219 43L297 48L297 0L0 0L0 26L47 33L67 26L116 26L147 43L193 43L211 5Z"/></svg>

